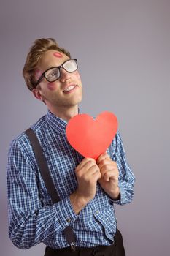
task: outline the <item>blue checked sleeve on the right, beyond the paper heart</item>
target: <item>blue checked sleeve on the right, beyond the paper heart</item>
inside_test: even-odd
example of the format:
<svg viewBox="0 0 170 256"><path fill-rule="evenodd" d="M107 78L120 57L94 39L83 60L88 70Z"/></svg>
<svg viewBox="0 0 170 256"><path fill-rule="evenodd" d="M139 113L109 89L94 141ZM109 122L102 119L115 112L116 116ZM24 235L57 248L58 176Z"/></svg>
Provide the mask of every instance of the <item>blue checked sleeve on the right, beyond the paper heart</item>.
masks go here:
<svg viewBox="0 0 170 256"><path fill-rule="evenodd" d="M131 203L131 200L134 197L135 177L127 163L125 149L119 132L117 132L115 136L115 140L111 145L111 150L112 159L117 162L119 170L120 200L113 200L112 198L110 198L110 200L112 203L125 205Z"/></svg>

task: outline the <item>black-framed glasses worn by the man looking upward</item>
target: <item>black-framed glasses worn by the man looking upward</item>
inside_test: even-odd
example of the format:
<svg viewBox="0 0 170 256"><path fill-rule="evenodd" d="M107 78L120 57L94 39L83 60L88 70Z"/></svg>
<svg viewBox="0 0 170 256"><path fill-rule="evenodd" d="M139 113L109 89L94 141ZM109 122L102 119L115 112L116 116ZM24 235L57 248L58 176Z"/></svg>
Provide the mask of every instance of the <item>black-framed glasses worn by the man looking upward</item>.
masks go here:
<svg viewBox="0 0 170 256"><path fill-rule="evenodd" d="M50 67L50 69L45 70L42 75L37 80L35 87L41 82L42 78L45 78L48 82L55 82L61 76L61 68L66 70L66 72L72 73L78 69L77 59L68 59L64 61L61 66Z"/></svg>

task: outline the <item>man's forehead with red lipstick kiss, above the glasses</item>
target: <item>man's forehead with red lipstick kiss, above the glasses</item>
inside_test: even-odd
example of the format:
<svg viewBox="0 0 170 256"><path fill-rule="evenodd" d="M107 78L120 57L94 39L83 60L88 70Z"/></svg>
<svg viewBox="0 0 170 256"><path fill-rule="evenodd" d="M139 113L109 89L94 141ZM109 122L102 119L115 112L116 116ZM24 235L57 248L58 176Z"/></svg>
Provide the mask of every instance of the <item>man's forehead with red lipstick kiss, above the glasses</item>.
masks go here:
<svg viewBox="0 0 170 256"><path fill-rule="evenodd" d="M41 60L39 61L39 69L42 69L45 71L46 69L50 67L58 67L60 66L64 61L69 59L66 54L59 52L58 50L47 50L42 55Z"/></svg>

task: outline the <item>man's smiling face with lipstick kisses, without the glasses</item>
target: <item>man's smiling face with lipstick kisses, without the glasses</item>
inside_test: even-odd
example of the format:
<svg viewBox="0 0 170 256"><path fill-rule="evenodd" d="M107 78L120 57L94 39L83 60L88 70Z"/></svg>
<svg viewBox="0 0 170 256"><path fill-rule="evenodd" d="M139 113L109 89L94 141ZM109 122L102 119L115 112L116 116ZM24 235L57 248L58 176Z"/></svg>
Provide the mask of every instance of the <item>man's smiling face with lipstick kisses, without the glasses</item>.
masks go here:
<svg viewBox="0 0 170 256"><path fill-rule="evenodd" d="M63 62L69 60L69 57L56 50L48 50L42 56L39 67L36 69L36 80L50 67L58 67ZM43 100L47 106L53 108L70 108L77 105L82 100L82 82L79 72L72 73L63 68L60 69L61 75L55 82L49 82L42 78L37 89L39 99ZM35 94L35 92L34 92Z"/></svg>

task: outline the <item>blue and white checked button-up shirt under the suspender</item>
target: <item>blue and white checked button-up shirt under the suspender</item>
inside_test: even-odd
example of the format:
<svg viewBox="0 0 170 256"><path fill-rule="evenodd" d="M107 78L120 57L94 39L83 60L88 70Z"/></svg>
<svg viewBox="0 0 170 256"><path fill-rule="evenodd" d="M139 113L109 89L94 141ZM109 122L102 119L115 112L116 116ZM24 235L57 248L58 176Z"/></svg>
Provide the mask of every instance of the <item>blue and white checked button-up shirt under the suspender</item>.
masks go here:
<svg viewBox="0 0 170 256"><path fill-rule="evenodd" d="M9 237L20 249L43 242L51 248L69 246L63 230L71 225L76 246L110 245L117 228L114 204L130 203L133 197L134 175L125 159L120 134L107 150L119 169L120 200L112 200L97 184L96 196L75 214L69 200L77 189L74 173L83 157L66 139L67 122L50 111L31 128L43 148L50 174L61 201L53 204L39 173L31 144L23 132L12 141L7 165L9 202Z"/></svg>

